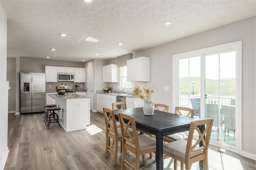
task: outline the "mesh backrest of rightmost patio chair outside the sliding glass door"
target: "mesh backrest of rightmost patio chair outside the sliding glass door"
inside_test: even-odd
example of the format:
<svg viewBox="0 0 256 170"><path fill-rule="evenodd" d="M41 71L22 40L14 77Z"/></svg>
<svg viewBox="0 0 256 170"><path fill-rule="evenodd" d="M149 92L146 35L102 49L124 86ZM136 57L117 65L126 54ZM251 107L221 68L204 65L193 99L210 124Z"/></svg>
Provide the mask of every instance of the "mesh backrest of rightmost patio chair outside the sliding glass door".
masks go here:
<svg viewBox="0 0 256 170"><path fill-rule="evenodd" d="M226 129L236 130L236 106L220 105Z"/></svg>

